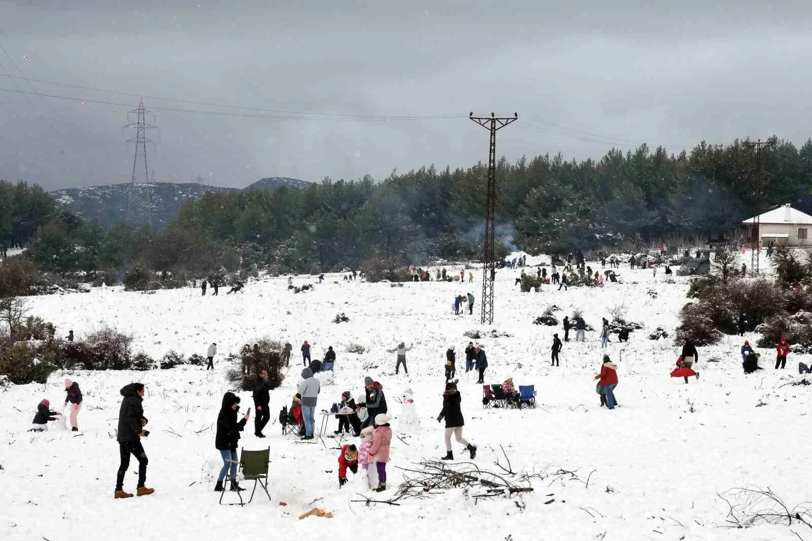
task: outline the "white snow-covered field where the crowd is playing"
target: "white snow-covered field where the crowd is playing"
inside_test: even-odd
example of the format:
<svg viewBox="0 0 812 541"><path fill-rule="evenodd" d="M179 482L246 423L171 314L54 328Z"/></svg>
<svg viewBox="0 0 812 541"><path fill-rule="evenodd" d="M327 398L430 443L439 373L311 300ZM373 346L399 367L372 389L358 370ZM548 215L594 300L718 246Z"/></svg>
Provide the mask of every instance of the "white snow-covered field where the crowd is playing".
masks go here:
<svg viewBox="0 0 812 541"><path fill-rule="evenodd" d="M749 256L746 262L749 266ZM54 322L62 335L73 329L81 339L107 323L132 331L136 350L155 358L169 349L186 357L204 354L213 341L219 353L213 373L194 366L150 372L57 372L47 385L0 391L0 430L8 440L0 446L0 536L50 541L268 536L670 541L798 539L794 530L802 539L812 539L812 530L803 524L728 529L724 527L728 504L717 496L754 484L771 487L790 506L810 499L806 415L812 390L781 387L801 378L795 366L799 360L810 364L808 358L791 355L787 370L772 370L774 352L760 350L766 370L745 375L738 354L741 340L728 337L715 347L699 348L701 379L686 385L669 377L679 348L670 339L648 339L658 326L673 333L676 314L687 301L685 281L663 283L662 269L654 281L650 271L621 268L622 284L568 292L545 286L540 293L521 293L513 285L519 272L497 273L493 326L478 323L480 272L470 285L431 282L391 287L347 283L340 275L326 275L325 283L314 291L299 294L289 292L287 279L280 278L248 283L244 294L226 295L222 289L216 297L203 297L197 289L146 295L106 288L28 298L30 313ZM299 285L314 282L294 279ZM657 293L655 299L646 294L649 289ZM453 297L469 291L476 297L473 316L455 316ZM598 407L593 377L603 351L597 332L588 332L585 344L564 344L561 366L549 365L552 333L563 338L563 331L532 321L551 304L562 309L555 313L559 320L572 309L584 309L586 322L596 328L600 318L610 318L609 309L624 304L627 319L645 325L620 347L613 335L607 350L620 365L615 390L619 409ZM331 322L340 312L350 321ZM516 385L535 384L537 409L482 408L482 386L464 374L463 349L469 339L463 333L491 328L506 336L474 340L488 356L486 381L501 383L512 376ZM253 436L252 418L240 440L244 448L270 445L273 501L259 494L245 509L220 506L212 489L221 465L213 425L227 391L222 359L262 337L294 345L288 378L271 392L273 424L266 427L268 438ZM754 342L757 336L745 338ZM361 475L349 474L349 483L339 489L334 439L303 443L280 434L276 418L296 392L301 367L297 353L303 340L313 344L314 358L321 358L328 345L338 356L335 382L322 385L319 410L338 402L344 390L361 395L364 376L371 375L383 384L395 417L392 429L399 435L400 404L395 397L407 388L414 391L421 430L393 439L389 488L381 495L367 490ZM386 353L401 340L414 344L407 354L408 375L395 375L395 356ZM349 344L362 344L368 351L347 353ZM352 503L360 499L357 493L387 499L402 478L398 466L412 467L445 453L443 425L436 417L442 405L444 355L451 344L456 346L462 375L464 437L479 446L477 465L498 470L494 463L503 461L501 445L514 471L547 477L533 481L533 493L510 500L477 502L470 496L480 489L466 495L459 488L426 500L400 500L400 506L367 508ZM708 362L711 359L718 362ZM48 398L54 409L61 407L66 376L78 381L84 392L80 433L58 427L41 435L26 432L39 400ZM156 492L119 501L113 500L119 465L114 429L119 388L132 381L147 387L144 409L152 434L143 443L149 456L147 486ZM242 408L252 404L250 393L240 396ZM317 423L319 418L317 414ZM337 421L330 418L330 435L336 427ZM457 444L454 452L458 459L467 457ZM135 488L136 467L132 461L125 490ZM581 482L550 475L559 468L575 471ZM545 504L548 500L554 501ZM298 520L314 506L335 517Z"/></svg>

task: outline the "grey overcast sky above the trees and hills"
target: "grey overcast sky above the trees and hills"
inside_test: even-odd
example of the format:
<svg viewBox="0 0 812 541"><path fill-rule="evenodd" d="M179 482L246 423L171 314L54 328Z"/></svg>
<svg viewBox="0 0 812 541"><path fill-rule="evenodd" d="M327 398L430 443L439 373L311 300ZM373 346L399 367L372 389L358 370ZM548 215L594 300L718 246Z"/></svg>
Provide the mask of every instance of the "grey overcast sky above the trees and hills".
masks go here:
<svg viewBox="0 0 812 541"><path fill-rule="evenodd" d="M488 142L471 110L518 112L511 162L812 136L810 2L665 3L0 0L0 178L129 182L140 96L156 180L236 188L469 167ZM368 118L434 115L459 116Z"/></svg>

